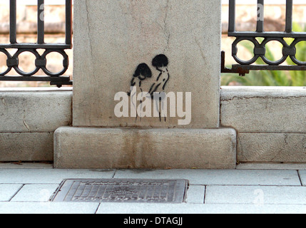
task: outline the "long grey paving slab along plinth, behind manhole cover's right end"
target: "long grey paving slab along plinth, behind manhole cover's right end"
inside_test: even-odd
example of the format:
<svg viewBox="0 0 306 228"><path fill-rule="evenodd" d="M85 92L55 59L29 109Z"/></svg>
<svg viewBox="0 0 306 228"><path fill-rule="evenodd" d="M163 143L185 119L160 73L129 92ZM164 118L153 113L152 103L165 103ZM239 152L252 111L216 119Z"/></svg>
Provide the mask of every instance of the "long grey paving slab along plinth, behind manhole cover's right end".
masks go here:
<svg viewBox="0 0 306 228"><path fill-rule="evenodd" d="M114 178L187 179L190 185L296 185L296 170L117 170Z"/></svg>

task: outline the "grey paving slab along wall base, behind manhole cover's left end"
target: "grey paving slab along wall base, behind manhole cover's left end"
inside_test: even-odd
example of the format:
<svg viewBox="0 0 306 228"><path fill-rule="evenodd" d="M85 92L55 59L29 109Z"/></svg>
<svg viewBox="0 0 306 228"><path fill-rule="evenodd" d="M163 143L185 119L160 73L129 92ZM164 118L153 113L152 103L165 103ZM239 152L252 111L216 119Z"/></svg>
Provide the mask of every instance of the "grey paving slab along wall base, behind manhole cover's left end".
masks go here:
<svg viewBox="0 0 306 228"><path fill-rule="evenodd" d="M1 183L59 184L63 179L112 178L115 170L0 169Z"/></svg>

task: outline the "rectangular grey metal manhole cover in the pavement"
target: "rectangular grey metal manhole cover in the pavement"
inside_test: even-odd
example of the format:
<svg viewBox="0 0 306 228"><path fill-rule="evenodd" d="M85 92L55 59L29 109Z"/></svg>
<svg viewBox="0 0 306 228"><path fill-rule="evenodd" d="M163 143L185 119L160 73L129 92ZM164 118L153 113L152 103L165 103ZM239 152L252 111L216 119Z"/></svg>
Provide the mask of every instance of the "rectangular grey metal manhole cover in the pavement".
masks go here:
<svg viewBox="0 0 306 228"><path fill-rule="evenodd" d="M181 203L188 180L63 180L54 202Z"/></svg>

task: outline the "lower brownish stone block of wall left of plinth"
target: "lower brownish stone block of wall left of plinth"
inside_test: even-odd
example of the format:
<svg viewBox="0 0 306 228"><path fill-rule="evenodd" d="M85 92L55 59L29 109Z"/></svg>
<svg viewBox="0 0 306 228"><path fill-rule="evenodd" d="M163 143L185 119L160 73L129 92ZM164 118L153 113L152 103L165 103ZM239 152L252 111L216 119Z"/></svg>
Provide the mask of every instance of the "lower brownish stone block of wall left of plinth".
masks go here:
<svg viewBox="0 0 306 228"><path fill-rule="evenodd" d="M53 133L0 133L0 161L52 161Z"/></svg>

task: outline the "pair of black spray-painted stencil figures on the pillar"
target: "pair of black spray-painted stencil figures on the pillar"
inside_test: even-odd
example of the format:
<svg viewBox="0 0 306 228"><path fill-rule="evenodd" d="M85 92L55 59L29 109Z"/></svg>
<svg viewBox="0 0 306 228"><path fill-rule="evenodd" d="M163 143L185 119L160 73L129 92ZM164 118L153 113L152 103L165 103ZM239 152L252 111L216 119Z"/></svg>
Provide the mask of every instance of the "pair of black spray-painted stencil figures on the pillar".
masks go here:
<svg viewBox="0 0 306 228"><path fill-rule="evenodd" d="M155 56L152 61L152 66L155 67L157 71L159 71L158 77L154 82L151 82L151 86L146 87L147 89L143 88L143 83L146 83L149 81L149 78L152 78L152 71L148 67L146 63L141 63L136 68L135 73L133 74L133 78L131 81L131 87L136 86L140 88L141 92L148 92L151 95L151 98L154 98L154 93L160 93L159 100L165 99L165 86L169 81L170 75L168 72L168 58L167 56L160 54L158 56ZM136 95L135 93L131 94L132 91L128 92L128 95L133 97ZM131 99L133 100L133 99ZM159 105L159 102L156 102L156 105ZM163 105L163 103L162 103ZM133 104L134 108L136 108L136 104ZM157 110L159 110L159 107L156 107ZM163 108L163 107L162 107ZM137 117L136 117L137 118ZM160 111L159 111L159 118L161 121Z"/></svg>

